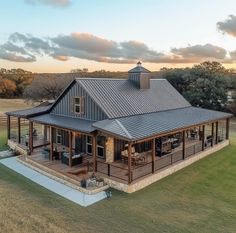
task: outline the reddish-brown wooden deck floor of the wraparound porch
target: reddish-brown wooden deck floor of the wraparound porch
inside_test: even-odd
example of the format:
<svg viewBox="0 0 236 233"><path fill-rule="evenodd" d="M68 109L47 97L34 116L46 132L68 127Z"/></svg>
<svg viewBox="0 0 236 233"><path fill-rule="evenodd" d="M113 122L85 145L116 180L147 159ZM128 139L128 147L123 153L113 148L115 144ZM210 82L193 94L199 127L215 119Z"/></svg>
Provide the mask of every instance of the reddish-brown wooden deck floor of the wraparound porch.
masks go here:
<svg viewBox="0 0 236 233"><path fill-rule="evenodd" d="M186 151L189 148L195 146L201 146L199 140L186 140ZM197 153L198 151L195 151ZM31 156L27 156L28 160L31 160L42 167L45 167L47 171L55 171L63 176L80 182L83 178L88 178L92 175L93 170L93 158L91 155L85 155L83 157L83 164L69 167L63 164L61 160L49 160L45 158L40 148L34 150ZM162 157L155 157L155 171L165 168L173 163L181 161L182 157L182 144L179 147L172 150L171 153ZM146 175L152 173L152 153L151 151L145 152L145 160L132 166L132 180L138 180ZM113 163L106 163L103 159L97 159L97 175L101 177L109 177L121 183L128 183L128 164L124 161L118 160Z"/></svg>

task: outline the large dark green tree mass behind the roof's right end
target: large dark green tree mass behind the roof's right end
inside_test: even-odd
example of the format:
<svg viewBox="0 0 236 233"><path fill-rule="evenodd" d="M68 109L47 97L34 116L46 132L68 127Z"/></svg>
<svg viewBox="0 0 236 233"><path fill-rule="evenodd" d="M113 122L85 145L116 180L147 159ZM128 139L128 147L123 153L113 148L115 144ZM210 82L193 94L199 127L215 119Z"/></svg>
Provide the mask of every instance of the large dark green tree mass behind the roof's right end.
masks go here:
<svg viewBox="0 0 236 233"><path fill-rule="evenodd" d="M227 88L232 71L218 62L203 62L192 68L162 69L162 77L193 105L197 107L225 110Z"/></svg>

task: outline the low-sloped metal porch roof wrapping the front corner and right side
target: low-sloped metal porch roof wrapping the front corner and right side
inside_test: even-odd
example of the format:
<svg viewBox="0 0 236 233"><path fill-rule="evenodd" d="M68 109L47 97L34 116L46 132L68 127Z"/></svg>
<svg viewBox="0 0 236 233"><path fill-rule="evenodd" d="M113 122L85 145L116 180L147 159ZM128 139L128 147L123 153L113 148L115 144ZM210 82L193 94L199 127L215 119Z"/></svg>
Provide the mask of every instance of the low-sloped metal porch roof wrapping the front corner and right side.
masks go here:
<svg viewBox="0 0 236 233"><path fill-rule="evenodd" d="M93 126L106 133L135 141L231 116L232 114L229 113L187 107L118 119L106 119L94 123Z"/></svg>

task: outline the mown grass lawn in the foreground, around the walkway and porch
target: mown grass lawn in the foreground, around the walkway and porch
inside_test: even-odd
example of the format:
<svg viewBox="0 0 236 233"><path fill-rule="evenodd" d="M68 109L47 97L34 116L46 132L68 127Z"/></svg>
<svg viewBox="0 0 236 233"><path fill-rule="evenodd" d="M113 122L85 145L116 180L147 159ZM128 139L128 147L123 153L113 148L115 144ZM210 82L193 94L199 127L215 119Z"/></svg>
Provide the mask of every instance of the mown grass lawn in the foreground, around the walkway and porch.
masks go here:
<svg viewBox="0 0 236 233"><path fill-rule="evenodd" d="M232 139L141 191L112 190L87 208L0 166L1 232L236 232L236 133Z"/></svg>

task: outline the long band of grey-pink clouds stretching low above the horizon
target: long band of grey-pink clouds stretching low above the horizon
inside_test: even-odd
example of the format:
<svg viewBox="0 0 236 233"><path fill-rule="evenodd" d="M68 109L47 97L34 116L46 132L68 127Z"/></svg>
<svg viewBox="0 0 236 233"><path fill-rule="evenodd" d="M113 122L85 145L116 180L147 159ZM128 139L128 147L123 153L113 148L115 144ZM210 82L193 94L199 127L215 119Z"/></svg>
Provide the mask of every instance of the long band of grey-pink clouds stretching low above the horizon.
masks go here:
<svg viewBox="0 0 236 233"><path fill-rule="evenodd" d="M50 38L15 32L0 45L1 59L24 62L36 61L39 56L49 56L59 61L80 58L117 64L136 63L137 60L150 63L193 63L210 59L223 62L226 54L224 48L211 44L158 52L143 42L117 42L78 32Z"/></svg>

